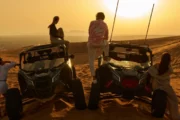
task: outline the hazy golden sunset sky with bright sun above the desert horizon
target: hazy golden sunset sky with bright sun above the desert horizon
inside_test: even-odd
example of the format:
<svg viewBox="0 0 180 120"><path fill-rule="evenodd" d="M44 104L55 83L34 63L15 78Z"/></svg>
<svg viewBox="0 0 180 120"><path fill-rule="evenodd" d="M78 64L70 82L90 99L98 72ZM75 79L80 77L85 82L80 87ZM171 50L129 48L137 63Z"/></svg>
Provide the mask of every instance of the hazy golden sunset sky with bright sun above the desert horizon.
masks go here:
<svg viewBox="0 0 180 120"><path fill-rule="evenodd" d="M112 2L111 2L112 1ZM144 35L153 3L120 0L115 35ZM147 3L148 4L147 4ZM87 35L97 12L106 15L110 33L117 0L0 0L0 35L48 35L55 15L67 35ZM143 11L143 12L142 12ZM179 35L180 0L156 0L150 35Z"/></svg>

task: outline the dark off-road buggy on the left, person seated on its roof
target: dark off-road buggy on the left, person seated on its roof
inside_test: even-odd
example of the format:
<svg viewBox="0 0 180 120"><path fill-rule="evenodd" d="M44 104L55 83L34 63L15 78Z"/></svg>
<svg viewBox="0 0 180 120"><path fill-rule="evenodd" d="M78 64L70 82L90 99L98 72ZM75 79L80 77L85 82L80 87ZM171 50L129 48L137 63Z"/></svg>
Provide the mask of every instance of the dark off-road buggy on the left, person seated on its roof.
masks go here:
<svg viewBox="0 0 180 120"><path fill-rule="evenodd" d="M77 109L85 109L84 91L65 45L40 45L19 54L18 82L20 91L12 88L6 94L9 118L19 117L22 101L27 98L49 99L61 92L72 92ZM63 91L62 91L63 90Z"/></svg>

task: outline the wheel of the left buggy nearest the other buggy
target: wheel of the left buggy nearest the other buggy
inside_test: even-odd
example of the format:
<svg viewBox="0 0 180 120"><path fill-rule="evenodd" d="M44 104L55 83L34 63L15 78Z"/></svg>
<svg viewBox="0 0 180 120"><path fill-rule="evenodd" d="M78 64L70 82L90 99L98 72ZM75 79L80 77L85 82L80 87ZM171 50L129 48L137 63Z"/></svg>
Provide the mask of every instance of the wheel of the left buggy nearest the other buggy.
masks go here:
<svg viewBox="0 0 180 120"><path fill-rule="evenodd" d="M75 100L75 107L79 110L86 109L86 102L84 97L84 91L82 83L79 79L72 80L72 91Z"/></svg>

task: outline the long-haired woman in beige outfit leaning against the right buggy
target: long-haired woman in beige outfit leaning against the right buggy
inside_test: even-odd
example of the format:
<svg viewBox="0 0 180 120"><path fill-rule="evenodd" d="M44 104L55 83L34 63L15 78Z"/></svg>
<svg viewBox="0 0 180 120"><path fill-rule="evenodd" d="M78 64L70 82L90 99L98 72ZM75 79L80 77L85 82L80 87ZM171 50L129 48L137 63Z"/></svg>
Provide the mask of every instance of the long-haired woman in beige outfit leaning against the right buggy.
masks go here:
<svg viewBox="0 0 180 120"><path fill-rule="evenodd" d="M160 89L166 92L171 119L180 120L178 99L170 85L170 75L173 73L171 55L168 52L163 53L160 63L156 63L150 67L148 73L152 77L153 91Z"/></svg>

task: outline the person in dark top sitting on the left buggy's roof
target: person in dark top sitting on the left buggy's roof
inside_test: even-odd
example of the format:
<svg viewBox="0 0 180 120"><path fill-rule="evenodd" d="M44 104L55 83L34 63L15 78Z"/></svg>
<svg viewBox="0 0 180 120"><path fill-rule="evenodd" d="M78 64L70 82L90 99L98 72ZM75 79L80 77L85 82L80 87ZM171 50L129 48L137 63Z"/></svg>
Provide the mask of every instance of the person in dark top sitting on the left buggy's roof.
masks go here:
<svg viewBox="0 0 180 120"><path fill-rule="evenodd" d="M57 29L56 24L59 22L59 16L54 16L52 23L48 26L51 44L65 44L68 50L69 41L64 40L64 31L62 28Z"/></svg>

